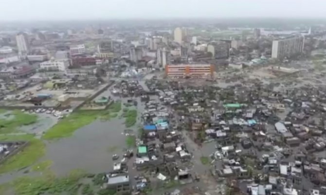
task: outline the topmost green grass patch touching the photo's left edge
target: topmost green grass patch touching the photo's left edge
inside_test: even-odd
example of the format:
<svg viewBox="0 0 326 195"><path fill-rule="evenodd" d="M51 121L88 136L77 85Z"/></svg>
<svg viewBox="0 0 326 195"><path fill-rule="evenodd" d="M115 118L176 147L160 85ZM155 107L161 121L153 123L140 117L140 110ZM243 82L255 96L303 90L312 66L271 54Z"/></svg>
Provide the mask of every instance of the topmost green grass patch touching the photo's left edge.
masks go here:
<svg viewBox="0 0 326 195"><path fill-rule="evenodd" d="M6 114L5 116L8 117L8 119L0 118L1 134L12 133L20 126L33 124L37 121L36 115L26 114L19 110L12 111L10 114Z"/></svg>

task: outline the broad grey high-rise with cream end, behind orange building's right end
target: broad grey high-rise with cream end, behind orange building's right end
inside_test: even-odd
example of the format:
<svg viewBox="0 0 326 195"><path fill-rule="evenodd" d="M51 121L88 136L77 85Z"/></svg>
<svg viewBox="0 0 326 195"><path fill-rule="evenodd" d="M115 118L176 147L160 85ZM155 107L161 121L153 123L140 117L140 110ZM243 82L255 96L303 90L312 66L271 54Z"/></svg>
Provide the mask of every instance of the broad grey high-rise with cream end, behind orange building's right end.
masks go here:
<svg viewBox="0 0 326 195"><path fill-rule="evenodd" d="M207 46L207 52L212 53L212 58L229 58L230 44L224 41L212 41Z"/></svg>

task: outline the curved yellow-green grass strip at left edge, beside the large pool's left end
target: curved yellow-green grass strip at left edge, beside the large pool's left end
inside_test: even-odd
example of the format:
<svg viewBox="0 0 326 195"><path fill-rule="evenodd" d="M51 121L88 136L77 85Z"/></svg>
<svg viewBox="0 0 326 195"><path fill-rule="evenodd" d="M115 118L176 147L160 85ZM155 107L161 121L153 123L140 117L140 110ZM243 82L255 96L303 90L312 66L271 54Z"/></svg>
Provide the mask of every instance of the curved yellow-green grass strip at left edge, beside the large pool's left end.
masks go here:
<svg viewBox="0 0 326 195"><path fill-rule="evenodd" d="M8 138L8 137L6 137ZM28 145L0 165L0 174L31 166L45 153L45 144L39 139L31 139Z"/></svg>

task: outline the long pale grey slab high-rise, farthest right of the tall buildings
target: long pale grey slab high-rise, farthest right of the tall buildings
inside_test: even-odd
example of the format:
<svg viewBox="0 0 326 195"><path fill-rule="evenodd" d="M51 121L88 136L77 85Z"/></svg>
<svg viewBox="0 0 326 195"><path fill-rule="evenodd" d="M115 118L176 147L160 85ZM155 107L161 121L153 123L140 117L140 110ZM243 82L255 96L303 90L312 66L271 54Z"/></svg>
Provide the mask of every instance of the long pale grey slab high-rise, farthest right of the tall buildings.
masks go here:
<svg viewBox="0 0 326 195"><path fill-rule="evenodd" d="M304 49L304 37L273 40L272 58L284 59L300 55Z"/></svg>

